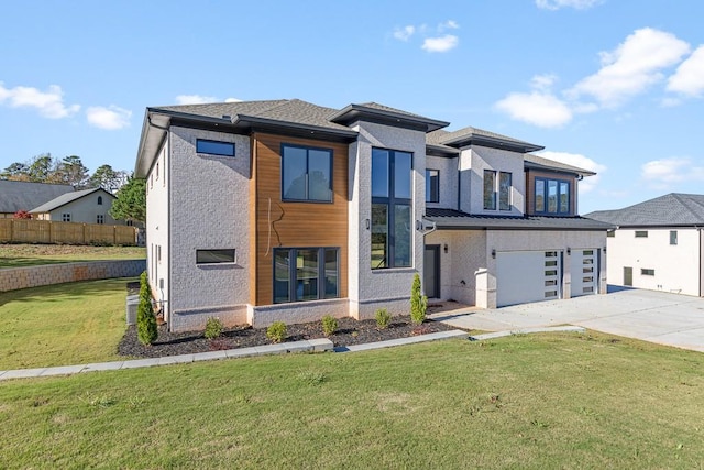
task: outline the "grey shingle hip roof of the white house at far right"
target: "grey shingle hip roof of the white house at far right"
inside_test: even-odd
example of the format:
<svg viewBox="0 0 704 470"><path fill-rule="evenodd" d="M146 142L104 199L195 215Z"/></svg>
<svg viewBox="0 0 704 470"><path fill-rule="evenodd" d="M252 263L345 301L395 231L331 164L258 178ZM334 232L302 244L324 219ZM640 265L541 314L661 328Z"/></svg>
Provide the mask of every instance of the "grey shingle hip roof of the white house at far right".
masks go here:
<svg viewBox="0 0 704 470"><path fill-rule="evenodd" d="M584 217L618 227L704 227L704 195L670 193L623 209L597 210Z"/></svg>

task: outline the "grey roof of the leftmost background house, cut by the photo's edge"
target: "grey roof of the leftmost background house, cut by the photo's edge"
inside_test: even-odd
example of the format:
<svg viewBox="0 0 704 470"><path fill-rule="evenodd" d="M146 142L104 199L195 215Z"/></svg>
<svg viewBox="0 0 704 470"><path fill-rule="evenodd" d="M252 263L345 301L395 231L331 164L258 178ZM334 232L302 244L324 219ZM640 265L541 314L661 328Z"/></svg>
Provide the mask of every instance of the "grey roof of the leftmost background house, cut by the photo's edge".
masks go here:
<svg viewBox="0 0 704 470"><path fill-rule="evenodd" d="M11 219L19 210L29 212L34 207L73 192L70 185L0 179L0 219Z"/></svg>

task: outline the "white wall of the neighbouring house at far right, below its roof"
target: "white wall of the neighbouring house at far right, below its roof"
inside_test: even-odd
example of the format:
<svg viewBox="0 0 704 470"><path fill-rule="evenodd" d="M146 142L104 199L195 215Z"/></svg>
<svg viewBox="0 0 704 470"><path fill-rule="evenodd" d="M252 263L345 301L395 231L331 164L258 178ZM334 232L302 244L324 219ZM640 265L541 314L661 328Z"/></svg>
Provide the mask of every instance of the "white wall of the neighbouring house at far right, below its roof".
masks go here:
<svg viewBox="0 0 704 470"><path fill-rule="evenodd" d="M648 231L648 237L636 238L636 230ZM678 232L675 245L670 244L670 230ZM609 283L624 285L624 266L629 266L634 287L702 295L700 237L694 228L616 230L607 238ZM644 269L654 270L654 275L641 274Z"/></svg>

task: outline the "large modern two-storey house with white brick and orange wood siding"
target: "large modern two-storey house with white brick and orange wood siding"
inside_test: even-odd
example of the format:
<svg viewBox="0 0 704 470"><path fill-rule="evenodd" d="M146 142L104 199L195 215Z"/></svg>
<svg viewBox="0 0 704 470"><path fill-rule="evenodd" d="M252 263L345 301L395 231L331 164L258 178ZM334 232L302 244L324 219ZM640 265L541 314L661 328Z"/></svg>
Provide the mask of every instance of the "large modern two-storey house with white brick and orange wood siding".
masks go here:
<svg viewBox="0 0 704 470"><path fill-rule="evenodd" d="M592 173L539 145L377 103L147 108L147 271L172 330L496 307L605 292L606 229L578 216Z"/></svg>

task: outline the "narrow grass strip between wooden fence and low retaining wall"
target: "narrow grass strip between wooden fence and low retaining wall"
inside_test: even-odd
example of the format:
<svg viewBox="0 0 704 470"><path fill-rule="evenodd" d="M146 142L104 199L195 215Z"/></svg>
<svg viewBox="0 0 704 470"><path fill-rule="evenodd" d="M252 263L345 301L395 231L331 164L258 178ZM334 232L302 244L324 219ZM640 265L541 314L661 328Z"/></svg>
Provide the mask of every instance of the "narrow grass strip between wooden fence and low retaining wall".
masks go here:
<svg viewBox="0 0 704 470"><path fill-rule="evenodd" d="M73 244L0 244L0 269L76 261L132 260L146 258L140 247L91 247Z"/></svg>

